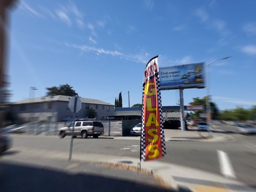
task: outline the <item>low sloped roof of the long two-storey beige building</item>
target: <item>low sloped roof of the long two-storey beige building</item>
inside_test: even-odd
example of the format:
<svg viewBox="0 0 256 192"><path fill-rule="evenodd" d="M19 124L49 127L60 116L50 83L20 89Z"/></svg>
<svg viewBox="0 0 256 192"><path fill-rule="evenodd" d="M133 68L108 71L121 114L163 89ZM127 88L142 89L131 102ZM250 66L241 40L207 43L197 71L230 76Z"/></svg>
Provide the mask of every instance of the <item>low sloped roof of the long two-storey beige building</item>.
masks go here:
<svg viewBox="0 0 256 192"><path fill-rule="evenodd" d="M12 105L27 104L27 103L41 103L41 102L46 102L46 101L66 101L66 102L68 102L71 97L72 96L42 96L42 97L29 98L29 99L24 99L21 101L13 102ZM100 101L98 99L90 99L90 98L83 98L83 97L80 97L80 99L81 99L82 103L115 106L113 104L106 103L106 102Z"/></svg>

